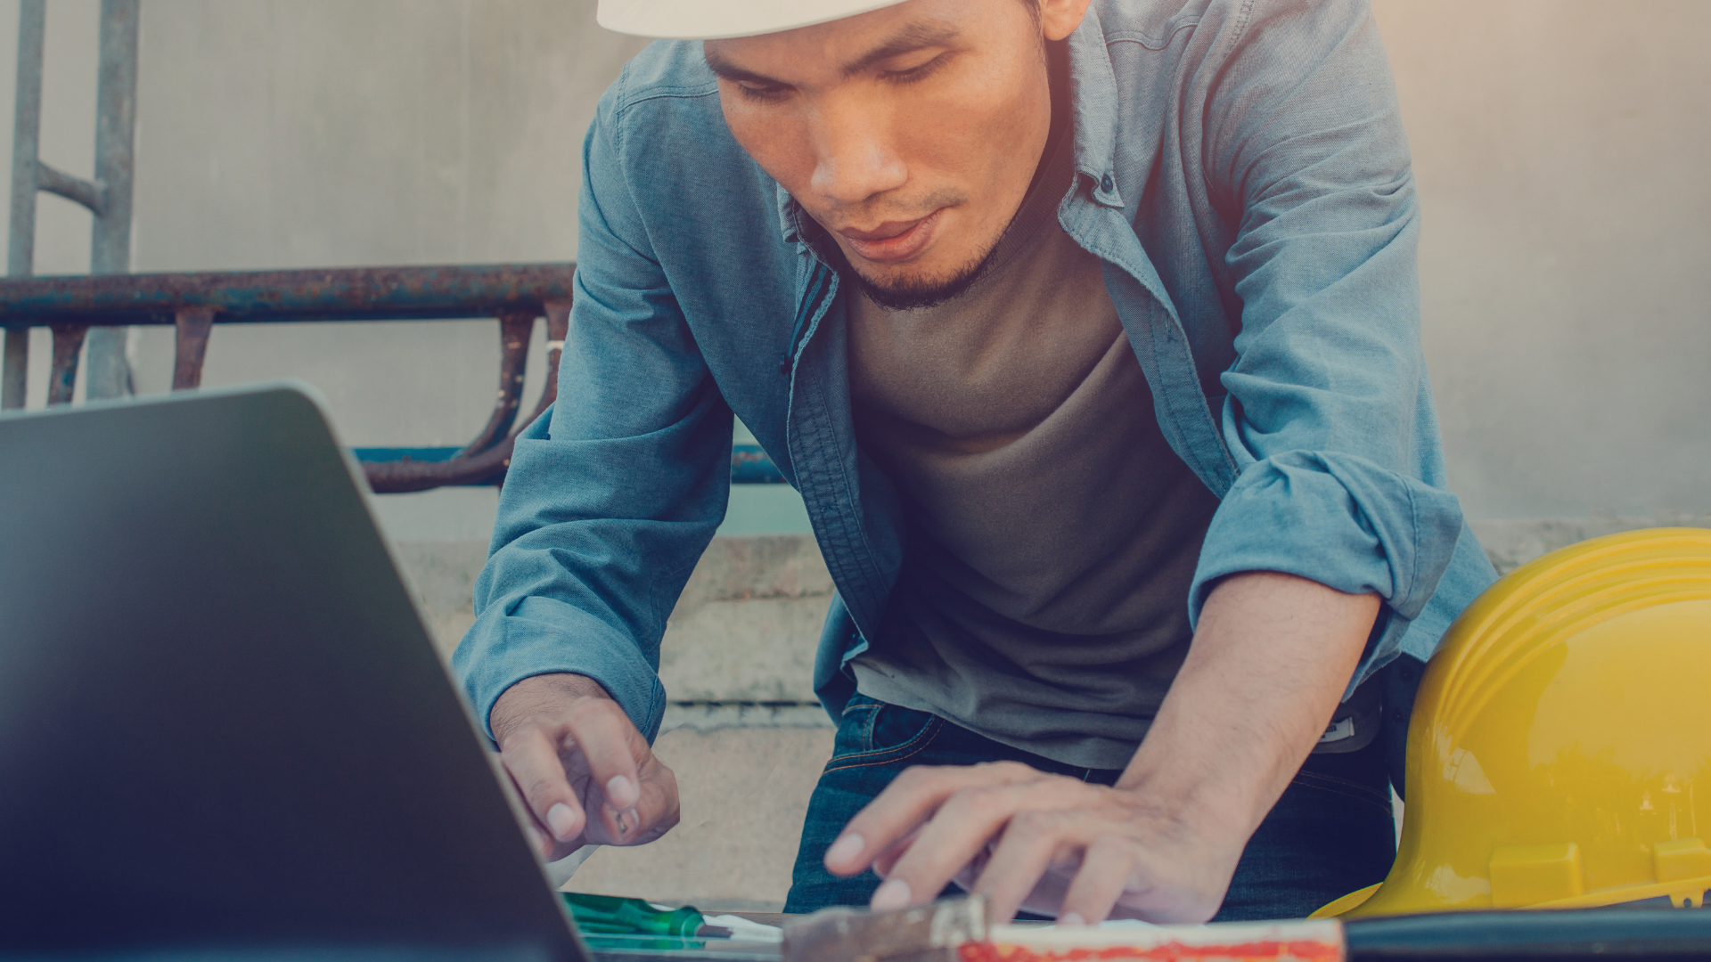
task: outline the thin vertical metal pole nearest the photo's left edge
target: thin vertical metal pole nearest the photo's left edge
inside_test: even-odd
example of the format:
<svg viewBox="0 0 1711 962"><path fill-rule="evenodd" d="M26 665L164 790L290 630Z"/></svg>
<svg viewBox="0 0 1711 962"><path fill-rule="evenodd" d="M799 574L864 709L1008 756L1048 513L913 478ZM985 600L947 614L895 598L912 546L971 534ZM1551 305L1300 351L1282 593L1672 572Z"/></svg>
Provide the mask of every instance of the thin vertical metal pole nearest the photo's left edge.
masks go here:
<svg viewBox="0 0 1711 962"><path fill-rule="evenodd" d="M12 224L7 240L7 276L29 277L36 265L36 157L41 147L41 38L46 0L17 5L17 106L12 113ZM5 332L5 375L0 409L24 406L29 387L29 329Z"/></svg>

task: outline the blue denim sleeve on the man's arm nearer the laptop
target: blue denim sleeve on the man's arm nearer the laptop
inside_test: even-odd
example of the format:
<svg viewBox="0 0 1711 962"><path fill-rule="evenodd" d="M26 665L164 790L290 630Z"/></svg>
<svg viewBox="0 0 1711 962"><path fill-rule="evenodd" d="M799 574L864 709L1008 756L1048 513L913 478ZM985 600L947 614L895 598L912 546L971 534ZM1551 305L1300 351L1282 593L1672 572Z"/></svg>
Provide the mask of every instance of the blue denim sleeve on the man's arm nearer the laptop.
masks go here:
<svg viewBox="0 0 1711 962"><path fill-rule="evenodd" d="M619 89L583 147L558 402L517 440L452 668L483 722L517 681L575 673L652 739L666 618L731 491L732 414L625 181Z"/></svg>

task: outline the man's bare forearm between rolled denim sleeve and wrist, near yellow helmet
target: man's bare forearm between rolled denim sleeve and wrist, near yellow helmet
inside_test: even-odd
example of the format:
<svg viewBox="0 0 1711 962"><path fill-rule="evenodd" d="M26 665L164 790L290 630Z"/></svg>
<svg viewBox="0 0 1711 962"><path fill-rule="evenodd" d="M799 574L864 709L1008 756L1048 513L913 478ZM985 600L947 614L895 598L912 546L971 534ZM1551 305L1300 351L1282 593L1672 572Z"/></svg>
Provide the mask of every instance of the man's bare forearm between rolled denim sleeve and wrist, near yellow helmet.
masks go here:
<svg viewBox="0 0 1711 962"><path fill-rule="evenodd" d="M1374 594L1295 575L1222 580L1117 787L1246 842L1324 734L1377 611Z"/></svg>

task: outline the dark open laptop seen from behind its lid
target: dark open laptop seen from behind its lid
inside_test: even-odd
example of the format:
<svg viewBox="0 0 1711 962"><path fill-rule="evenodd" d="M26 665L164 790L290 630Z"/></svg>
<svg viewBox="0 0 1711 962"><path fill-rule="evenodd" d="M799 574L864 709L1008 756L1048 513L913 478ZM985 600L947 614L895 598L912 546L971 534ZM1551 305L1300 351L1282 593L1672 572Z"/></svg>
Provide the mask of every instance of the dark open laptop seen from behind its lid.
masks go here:
<svg viewBox="0 0 1711 962"><path fill-rule="evenodd" d="M0 957L578 938L311 394L0 418Z"/></svg>

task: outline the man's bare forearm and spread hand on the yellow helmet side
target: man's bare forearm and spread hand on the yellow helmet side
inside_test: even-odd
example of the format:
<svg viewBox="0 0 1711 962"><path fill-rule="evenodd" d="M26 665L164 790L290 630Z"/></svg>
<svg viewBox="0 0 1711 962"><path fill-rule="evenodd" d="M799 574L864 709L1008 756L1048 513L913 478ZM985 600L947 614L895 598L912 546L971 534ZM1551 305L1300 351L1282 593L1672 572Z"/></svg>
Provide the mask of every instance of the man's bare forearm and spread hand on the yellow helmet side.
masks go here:
<svg viewBox="0 0 1711 962"><path fill-rule="evenodd" d="M999 921L1208 921L1329 724L1377 611L1374 594L1230 575L1116 787L1015 762L907 769L826 849L826 870L873 866L874 909L931 902L955 878Z"/></svg>

